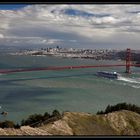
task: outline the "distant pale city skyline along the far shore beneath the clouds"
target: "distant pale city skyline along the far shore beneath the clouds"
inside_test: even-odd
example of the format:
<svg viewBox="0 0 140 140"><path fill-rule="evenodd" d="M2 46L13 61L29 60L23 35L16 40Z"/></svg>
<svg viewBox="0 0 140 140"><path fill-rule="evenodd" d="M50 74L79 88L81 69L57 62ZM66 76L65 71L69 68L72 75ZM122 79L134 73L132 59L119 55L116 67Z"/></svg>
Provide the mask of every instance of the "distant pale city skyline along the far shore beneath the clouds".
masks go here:
<svg viewBox="0 0 140 140"><path fill-rule="evenodd" d="M125 60L126 50L117 49L77 49L62 48L59 46L41 48L41 49L25 49L10 53L11 55L33 55L33 56L55 56L64 58L85 58L95 60ZM140 51L131 50L132 61L140 60Z"/></svg>

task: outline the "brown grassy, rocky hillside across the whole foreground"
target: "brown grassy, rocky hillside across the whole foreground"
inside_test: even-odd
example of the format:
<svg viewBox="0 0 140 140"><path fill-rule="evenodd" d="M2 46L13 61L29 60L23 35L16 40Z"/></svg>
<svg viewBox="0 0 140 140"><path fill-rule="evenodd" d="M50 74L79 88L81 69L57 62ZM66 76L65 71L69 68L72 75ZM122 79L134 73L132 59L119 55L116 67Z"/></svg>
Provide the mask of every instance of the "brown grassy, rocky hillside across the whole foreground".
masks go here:
<svg viewBox="0 0 140 140"><path fill-rule="evenodd" d="M140 135L140 114L127 110L103 115L64 112L60 120L39 127L0 128L0 135Z"/></svg>

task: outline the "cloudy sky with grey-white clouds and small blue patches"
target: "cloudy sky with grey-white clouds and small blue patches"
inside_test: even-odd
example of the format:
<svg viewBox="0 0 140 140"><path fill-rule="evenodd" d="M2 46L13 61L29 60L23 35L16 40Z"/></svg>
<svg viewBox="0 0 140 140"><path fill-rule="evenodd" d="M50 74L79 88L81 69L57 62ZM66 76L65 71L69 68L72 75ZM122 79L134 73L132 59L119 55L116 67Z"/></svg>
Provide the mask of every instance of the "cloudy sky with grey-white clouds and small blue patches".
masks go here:
<svg viewBox="0 0 140 140"><path fill-rule="evenodd" d="M140 5L1 5L0 47L140 47Z"/></svg>

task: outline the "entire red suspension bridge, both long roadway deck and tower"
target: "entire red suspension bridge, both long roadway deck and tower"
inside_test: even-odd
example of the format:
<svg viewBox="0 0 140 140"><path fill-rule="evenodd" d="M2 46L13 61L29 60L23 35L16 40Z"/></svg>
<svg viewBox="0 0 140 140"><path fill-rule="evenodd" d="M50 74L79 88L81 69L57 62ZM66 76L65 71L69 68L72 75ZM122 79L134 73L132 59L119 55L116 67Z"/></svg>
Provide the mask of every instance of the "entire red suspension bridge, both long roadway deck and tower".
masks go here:
<svg viewBox="0 0 140 140"><path fill-rule="evenodd" d="M131 66L140 66L140 64L131 64L131 50L126 50L126 63L125 64L110 64L110 65L80 65L80 66L57 66L45 68L24 68L24 69L8 69L0 70L0 73L14 73L14 72L27 72L27 71L42 71L42 70L64 70L64 69L79 69L79 68L97 68L97 67L126 67L126 73L130 74Z"/></svg>

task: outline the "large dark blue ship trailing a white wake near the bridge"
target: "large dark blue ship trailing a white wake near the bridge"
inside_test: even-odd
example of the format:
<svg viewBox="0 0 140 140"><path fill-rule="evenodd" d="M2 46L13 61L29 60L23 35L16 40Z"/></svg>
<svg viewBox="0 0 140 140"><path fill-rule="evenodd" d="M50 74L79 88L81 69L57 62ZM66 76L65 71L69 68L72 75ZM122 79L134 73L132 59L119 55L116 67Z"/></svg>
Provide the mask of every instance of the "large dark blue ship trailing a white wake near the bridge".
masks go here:
<svg viewBox="0 0 140 140"><path fill-rule="evenodd" d="M99 71L97 72L97 76L109 79L118 79L119 74L117 72Z"/></svg>

